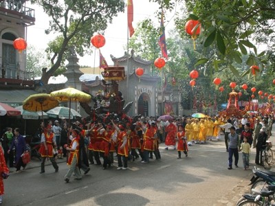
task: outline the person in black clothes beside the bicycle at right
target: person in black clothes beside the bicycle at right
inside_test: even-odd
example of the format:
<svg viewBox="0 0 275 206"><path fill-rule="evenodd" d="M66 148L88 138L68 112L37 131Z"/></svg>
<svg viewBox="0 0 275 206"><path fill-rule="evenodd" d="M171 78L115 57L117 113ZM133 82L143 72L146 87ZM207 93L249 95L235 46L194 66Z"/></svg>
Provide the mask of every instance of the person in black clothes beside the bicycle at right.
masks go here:
<svg viewBox="0 0 275 206"><path fill-rule="evenodd" d="M265 150L267 146L266 141L267 141L267 129L265 128L265 126L263 126L260 130L260 135L256 143L256 157L255 157L256 165L263 165L263 159L261 157L263 155L263 150Z"/></svg>

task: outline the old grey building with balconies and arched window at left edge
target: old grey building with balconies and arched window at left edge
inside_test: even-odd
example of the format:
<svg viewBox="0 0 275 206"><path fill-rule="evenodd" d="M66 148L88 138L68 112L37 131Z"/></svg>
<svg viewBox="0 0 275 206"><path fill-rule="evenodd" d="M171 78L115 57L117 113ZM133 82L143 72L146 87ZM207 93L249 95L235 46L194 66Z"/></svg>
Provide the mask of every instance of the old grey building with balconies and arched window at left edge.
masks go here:
<svg viewBox="0 0 275 206"><path fill-rule="evenodd" d="M34 10L25 6L25 0L0 1L0 102L17 106L36 93L32 74L25 71L26 51L19 53L13 47L16 38L27 38L27 28L34 22Z"/></svg>

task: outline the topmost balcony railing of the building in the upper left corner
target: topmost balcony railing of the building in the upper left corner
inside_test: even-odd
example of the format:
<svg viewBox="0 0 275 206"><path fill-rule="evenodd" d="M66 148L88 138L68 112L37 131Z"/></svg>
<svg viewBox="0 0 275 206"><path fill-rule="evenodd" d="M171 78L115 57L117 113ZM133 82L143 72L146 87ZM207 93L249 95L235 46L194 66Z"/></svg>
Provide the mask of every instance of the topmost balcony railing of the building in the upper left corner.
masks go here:
<svg viewBox="0 0 275 206"><path fill-rule="evenodd" d="M7 10L12 10L14 12L19 12L25 16L29 16L32 18L35 17L34 9L25 7L22 1L10 1L10 0L1 1L0 7L5 8Z"/></svg>

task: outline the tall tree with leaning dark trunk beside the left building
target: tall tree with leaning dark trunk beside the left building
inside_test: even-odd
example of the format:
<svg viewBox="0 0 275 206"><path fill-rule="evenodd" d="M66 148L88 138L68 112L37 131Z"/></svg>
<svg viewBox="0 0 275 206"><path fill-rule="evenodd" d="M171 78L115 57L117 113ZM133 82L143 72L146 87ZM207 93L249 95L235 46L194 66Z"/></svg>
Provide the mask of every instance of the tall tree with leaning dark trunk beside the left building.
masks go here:
<svg viewBox="0 0 275 206"><path fill-rule="evenodd" d="M32 0L32 3L41 5L51 18L46 34L56 32L60 35L47 49L52 65L43 72L41 80L44 83L61 66L69 47L74 45L76 52L83 56L91 36L104 31L113 16L124 11L123 0Z"/></svg>

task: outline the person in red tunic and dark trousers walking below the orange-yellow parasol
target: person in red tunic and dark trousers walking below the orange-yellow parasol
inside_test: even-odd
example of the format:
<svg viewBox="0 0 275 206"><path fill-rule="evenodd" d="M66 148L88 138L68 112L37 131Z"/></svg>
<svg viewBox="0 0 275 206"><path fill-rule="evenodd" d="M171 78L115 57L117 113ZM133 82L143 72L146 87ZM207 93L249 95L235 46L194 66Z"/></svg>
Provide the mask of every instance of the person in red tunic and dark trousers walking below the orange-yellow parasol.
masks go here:
<svg viewBox="0 0 275 206"><path fill-rule="evenodd" d="M41 147L39 148L39 153L42 157L41 162L41 174L45 172L45 160L50 159L52 165L54 166L55 172L58 172L58 165L54 159L53 144L56 147L56 139L54 133L52 133L52 126L49 124L46 128L46 132L41 135Z"/></svg>

